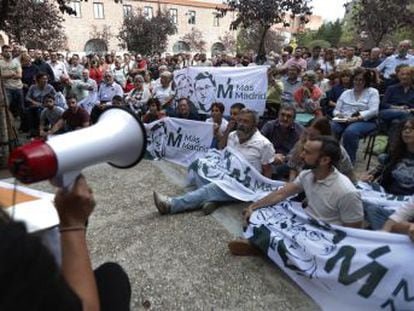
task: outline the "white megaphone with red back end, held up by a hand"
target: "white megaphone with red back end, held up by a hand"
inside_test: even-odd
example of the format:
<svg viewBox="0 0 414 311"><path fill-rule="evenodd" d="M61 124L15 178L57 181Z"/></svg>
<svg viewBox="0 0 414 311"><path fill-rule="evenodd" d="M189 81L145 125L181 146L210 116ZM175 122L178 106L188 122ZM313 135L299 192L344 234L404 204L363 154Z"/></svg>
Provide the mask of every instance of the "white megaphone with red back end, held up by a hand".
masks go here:
<svg viewBox="0 0 414 311"><path fill-rule="evenodd" d="M146 143L141 121L126 109L110 107L93 126L16 148L8 166L22 183L50 179L57 187L70 187L82 169L93 164L133 167L144 156Z"/></svg>

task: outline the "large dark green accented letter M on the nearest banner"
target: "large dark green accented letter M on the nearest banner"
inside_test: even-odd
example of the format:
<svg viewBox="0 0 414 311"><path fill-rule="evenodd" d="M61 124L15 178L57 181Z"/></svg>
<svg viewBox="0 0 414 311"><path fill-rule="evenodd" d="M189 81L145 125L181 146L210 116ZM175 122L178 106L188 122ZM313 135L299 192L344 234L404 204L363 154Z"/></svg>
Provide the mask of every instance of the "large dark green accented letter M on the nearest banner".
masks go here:
<svg viewBox="0 0 414 311"><path fill-rule="evenodd" d="M327 273L332 272L336 264L342 260L338 282L347 286L368 276L365 284L363 284L358 291L358 295L364 298L369 298L388 271L387 268L380 265L375 261L375 259L389 253L390 251L391 250L388 246L383 246L373 250L368 254L368 257L372 259L372 262L350 273L352 258L355 256L356 250L354 247L349 245L342 246L338 253L326 262L325 271Z"/></svg>

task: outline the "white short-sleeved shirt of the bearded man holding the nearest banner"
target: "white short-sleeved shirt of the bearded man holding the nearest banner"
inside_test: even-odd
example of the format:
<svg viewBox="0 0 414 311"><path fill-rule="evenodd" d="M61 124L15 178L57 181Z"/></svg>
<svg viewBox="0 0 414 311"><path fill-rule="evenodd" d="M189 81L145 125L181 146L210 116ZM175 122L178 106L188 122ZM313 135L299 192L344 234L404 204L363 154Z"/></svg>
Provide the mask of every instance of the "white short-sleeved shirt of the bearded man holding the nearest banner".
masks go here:
<svg viewBox="0 0 414 311"><path fill-rule="evenodd" d="M336 168L323 180L315 180L312 170L304 170L293 183L305 191L306 212L312 217L335 225L364 219L359 191Z"/></svg>

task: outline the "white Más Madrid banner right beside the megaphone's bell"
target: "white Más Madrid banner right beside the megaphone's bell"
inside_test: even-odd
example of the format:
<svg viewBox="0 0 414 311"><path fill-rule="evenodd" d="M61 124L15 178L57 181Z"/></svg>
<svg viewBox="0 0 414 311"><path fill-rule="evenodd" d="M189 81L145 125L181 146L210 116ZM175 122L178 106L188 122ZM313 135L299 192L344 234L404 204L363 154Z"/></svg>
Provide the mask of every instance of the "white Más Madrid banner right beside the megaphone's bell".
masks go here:
<svg viewBox="0 0 414 311"><path fill-rule="evenodd" d="M154 159L164 159L188 167L204 157L213 140L213 123L163 118L146 124L147 151Z"/></svg>

